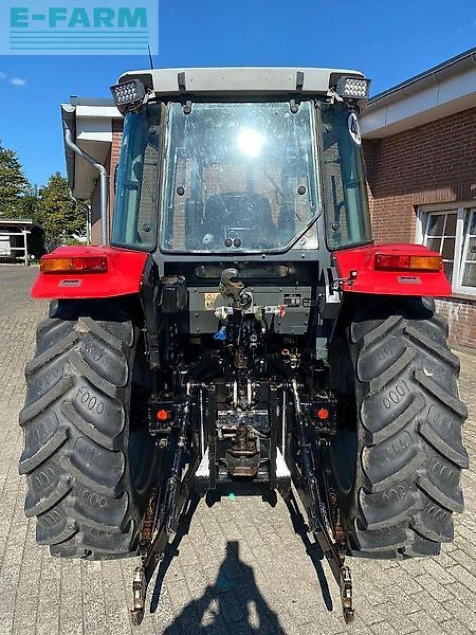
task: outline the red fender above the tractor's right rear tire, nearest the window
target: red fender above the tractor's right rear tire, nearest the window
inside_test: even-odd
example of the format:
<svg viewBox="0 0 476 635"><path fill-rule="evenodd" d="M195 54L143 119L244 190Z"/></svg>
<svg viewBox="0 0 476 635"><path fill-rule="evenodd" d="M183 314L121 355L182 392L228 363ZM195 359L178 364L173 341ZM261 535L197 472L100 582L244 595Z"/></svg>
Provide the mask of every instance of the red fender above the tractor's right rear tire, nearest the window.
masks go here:
<svg viewBox="0 0 476 635"><path fill-rule="evenodd" d="M421 244L379 244L334 252L342 289L348 293L374 295L451 296L451 285L440 271L376 271L375 257L385 255L437 256Z"/></svg>

